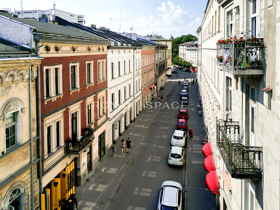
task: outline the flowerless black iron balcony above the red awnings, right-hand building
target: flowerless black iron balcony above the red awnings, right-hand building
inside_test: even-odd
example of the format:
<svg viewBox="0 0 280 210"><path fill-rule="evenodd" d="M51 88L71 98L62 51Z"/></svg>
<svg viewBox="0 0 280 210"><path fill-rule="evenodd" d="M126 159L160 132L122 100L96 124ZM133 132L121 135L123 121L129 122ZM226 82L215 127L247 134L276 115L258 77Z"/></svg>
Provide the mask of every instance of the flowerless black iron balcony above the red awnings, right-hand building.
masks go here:
<svg viewBox="0 0 280 210"><path fill-rule="evenodd" d="M218 120L217 144L232 178L262 179L262 147L244 146L239 140L239 123Z"/></svg>

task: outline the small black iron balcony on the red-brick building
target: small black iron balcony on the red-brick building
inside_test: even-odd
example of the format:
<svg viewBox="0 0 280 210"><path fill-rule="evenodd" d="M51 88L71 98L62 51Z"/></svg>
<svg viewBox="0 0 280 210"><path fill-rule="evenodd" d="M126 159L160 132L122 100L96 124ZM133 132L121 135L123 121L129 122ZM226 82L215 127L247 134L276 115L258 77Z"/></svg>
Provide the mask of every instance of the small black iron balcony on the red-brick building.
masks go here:
<svg viewBox="0 0 280 210"><path fill-rule="evenodd" d="M83 129L83 136L77 139L70 139L66 141L66 152L71 154L79 154L91 144L94 140L94 130L91 127L85 127Z"/></svg>

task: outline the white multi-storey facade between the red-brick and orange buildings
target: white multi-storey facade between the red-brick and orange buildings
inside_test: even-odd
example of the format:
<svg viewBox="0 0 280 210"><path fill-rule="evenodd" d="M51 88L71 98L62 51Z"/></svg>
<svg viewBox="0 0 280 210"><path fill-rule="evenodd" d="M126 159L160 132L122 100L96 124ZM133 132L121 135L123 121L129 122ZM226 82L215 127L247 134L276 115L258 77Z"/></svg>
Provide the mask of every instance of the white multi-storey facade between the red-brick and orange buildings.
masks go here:
<svg viewBox="0 0 280 210"><path fill-rule="evenodd" d="M107 59L108 132L113 143L141 111L141 46L111 46Z"/></svg>

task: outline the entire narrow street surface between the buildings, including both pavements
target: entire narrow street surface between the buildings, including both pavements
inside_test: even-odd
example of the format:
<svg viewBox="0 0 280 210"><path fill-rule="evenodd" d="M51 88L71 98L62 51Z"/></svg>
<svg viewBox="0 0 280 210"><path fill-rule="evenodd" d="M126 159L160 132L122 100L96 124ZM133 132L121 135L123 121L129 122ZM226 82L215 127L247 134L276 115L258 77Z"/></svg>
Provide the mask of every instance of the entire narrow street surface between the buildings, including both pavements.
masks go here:
<svg viewBox="0 0 280 210"><path fill-rule="evenodd" d="M116 157L106 155L96 174L77 190L78 209L156 209L158 188L163 181L178 181L184 186L185 209L215 209L212 193L205 190L206 172L200 139L204 138L202 116L197 112L199 98L197 83L190 84L188 127L194 131L187 140L186 164L170 167L167 164L170 139L176 129L181 109L178 81L195 78L195 74L179 71L168 79L163 102L158 98L148 104L137 121L126 130L122 139L130 137L130 154L121 154L120 141ZM184 106L186 107L186 106Z"/></svg>

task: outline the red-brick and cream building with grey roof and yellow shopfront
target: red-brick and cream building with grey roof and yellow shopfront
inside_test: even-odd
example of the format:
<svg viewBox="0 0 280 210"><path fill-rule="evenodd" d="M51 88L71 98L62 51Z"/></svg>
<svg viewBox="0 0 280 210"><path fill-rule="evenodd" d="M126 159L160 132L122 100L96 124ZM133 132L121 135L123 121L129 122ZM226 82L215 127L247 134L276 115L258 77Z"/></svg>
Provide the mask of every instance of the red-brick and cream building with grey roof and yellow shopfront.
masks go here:
<svg viewBox="0 0 280 210"><path fill-rule="evenodd" d="M38 47L43 57L38 90L42 137L40 191L50 196L51 208L55 209L66 204L75 194L75 186L85 183L108 151L109 40L71 27L7 14L1 16L0 24L12 29L1 31L1 35Z"/></svg>

